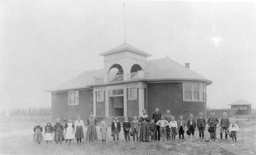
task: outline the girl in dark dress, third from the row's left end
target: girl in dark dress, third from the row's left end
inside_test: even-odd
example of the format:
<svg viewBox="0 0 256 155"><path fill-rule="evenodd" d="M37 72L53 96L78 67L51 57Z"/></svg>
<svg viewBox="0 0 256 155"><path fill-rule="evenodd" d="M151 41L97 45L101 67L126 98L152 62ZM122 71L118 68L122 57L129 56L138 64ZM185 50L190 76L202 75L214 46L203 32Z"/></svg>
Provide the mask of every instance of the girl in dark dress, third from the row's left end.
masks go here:
<svg viewBox="0 0 256 155"><path fill-rule="evenodd" d="M59 142L61 145L61 142L65 141L64 139L64 135L63 135L63 130L64 127L63 125L60 123L60 119L57 118L56 119L56 123L53 127L53 131L54 131L54 142L56 142L56 144Z"/></svg>

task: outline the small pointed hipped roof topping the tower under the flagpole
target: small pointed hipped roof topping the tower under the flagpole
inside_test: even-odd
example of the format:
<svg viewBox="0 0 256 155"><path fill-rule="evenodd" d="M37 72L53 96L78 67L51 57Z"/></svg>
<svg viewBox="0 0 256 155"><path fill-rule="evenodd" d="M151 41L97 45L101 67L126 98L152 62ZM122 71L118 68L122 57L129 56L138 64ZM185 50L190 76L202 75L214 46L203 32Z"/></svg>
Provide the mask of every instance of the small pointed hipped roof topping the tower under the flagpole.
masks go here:
<svg viewBox="0 0 256 155"><path fill-rule="evenodd" d="M131 45L129 45L128 43L126 43L125 41L123 42L122 45L116 47L116 48L113 48L109 51L106 51L104 53L100 53L99 55L100 56L104 56L104 55L108 55L108 54L112 54L112 53L117 53L117 52L121 52L121 51L124 51L124 50L128 50L128 51L131 51L131 52L134 52L134 53L137 53L137 54L141 54L141 55L144 55L144 56L151 56L151 54L147 54Z"/></svg>

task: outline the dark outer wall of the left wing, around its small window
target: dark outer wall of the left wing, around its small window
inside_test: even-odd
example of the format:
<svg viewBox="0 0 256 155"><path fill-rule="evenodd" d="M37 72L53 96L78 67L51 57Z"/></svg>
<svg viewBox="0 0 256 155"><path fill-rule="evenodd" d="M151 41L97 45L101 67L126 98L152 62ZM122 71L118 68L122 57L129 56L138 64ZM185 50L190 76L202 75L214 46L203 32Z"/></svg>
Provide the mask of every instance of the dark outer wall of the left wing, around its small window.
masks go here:
<svg viewBox="0 0 256 155"><path fill-rule="evenodd" d="M78 115L81 115L82 120L90 117L93 112L92 90L79 91L79 105L69 105L68 98L68 92L52 93L52 120L68 117L76 119Z"/></svg>

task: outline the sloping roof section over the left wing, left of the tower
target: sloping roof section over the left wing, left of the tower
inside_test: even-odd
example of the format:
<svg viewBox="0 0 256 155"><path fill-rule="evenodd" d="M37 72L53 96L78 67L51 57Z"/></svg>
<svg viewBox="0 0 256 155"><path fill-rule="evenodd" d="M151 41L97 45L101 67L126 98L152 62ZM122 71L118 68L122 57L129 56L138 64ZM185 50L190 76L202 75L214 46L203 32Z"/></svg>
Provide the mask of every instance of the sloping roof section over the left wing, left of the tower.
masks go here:
<svg viewBox="0 0 256 155"><path fill-rule="evenodd" d="M46 92L59 92L66 90L75 90L80 88L89 88L87 85L93 84L94 77L101 78L104 76L104 69L86 71L78 75L76 78L59 84Z"/></svg>

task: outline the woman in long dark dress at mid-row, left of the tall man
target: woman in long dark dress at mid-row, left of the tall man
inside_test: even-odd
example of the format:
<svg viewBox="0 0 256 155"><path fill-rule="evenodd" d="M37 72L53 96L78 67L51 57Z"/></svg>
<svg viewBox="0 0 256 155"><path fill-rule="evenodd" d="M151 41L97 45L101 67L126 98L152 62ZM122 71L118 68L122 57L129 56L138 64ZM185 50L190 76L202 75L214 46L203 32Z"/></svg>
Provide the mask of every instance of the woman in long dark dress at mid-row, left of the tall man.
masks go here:
<svg viewBox="0 0 256 155"><path fill-rule="evenodd" d="M146 115L146 109L142 110L143 114L139 118L140 122L140 137L139 140L142 142L147 142L149 140L149 129L148 122L150 122L150 118Z"/></svg>

